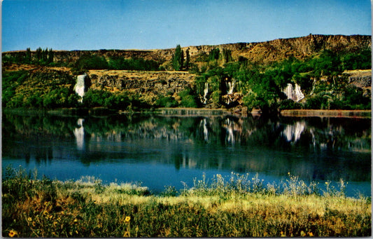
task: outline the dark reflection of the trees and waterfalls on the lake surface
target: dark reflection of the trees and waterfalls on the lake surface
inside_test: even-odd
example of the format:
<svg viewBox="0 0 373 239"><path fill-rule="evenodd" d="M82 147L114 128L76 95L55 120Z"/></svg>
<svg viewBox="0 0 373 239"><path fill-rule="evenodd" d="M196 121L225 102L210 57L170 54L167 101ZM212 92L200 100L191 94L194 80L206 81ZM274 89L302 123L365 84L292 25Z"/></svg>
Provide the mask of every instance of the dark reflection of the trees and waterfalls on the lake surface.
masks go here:
<svg viewBox="0 0 373 239"><path fill-rule="evenodd" d="M52 160L73 153L82 163L131 159L180 168L237 172L290 171L307 179L370 179L370 119L176 117L152 114L86 117L77 149L78 118L3 115L3 155ZM75 151L59 151L52 140ZM22 148L13 142L22 142ZM67 144L67 143L66 143ZM144 149L159 149L143 151Z"/></svg>

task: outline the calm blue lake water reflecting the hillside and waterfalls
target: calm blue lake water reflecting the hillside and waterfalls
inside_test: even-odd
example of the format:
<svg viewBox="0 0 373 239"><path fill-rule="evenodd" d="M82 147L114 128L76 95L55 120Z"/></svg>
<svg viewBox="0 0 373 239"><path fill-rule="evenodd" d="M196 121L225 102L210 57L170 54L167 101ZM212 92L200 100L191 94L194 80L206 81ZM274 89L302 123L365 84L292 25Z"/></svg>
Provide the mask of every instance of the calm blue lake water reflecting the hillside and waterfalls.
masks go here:
<svg viewBox="0 0 373 239"><path fill-rule="evenodd" d="M193 178L258 173L265 182L339 179L371 191L371 119L3 114L2 168L22 165L51 179L142 182L153 191Z"/></svg>

